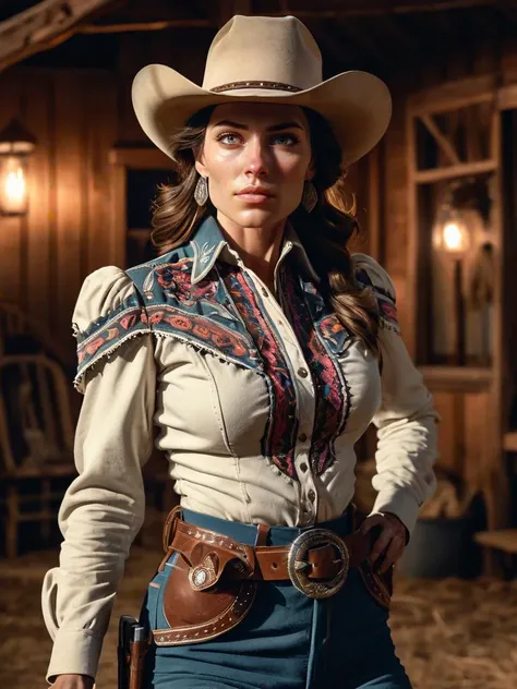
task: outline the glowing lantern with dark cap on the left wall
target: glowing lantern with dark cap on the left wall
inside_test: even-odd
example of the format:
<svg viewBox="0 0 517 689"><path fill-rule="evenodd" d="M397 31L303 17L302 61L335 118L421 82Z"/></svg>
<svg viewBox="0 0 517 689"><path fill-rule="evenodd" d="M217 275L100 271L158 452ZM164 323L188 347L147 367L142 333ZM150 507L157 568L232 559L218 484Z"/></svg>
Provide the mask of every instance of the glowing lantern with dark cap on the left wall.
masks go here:
<svg viewBox="0 0 517 689"><path fill-rule="evenodd" d="M16 119L0 132L0 215L27 213L27 157L35 147L36 138Z"/></svg>

